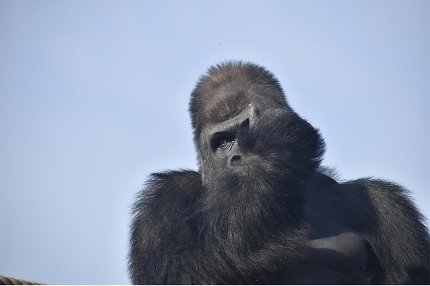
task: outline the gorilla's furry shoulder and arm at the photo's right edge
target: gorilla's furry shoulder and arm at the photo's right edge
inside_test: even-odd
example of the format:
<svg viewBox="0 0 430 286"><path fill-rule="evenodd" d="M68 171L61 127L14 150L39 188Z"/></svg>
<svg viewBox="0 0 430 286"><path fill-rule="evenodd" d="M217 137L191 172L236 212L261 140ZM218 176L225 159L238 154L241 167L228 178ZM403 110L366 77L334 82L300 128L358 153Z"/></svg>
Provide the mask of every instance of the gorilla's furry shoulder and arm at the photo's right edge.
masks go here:
<svg viewBox="0 0 430 286"><path fill-rule="evenodd" d="M364 189L370 201L367 207L373 212L364 222L357 222L357 217L353 219L351 210L346 213L347 206L339 208L351 216L354 227L362 229L373 255L369 262L373 276L379 276L386 284L429 285L429 231L408 190L384 180L371 179L345 183L343 189L349 192L350 189ZM379 266L383 271L378 272Z"/></svg>

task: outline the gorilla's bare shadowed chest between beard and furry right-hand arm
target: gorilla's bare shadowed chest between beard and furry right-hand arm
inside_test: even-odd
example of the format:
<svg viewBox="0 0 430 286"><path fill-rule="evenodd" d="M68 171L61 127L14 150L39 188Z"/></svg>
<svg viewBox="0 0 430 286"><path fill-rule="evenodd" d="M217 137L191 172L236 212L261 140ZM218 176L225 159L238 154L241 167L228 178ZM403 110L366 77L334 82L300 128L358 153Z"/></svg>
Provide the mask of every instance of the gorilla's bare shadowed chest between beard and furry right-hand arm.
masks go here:
<svg viewBox="0 0 430 286"><path fill-rule="evenodd" d="M306 221L311 233L303 262L289 266L271 281L289 285L350 285L370 282L366 273L369 250L363 236L330 216L333 202L314 194L338 186L335 180L316 172L306 192Z"/></svg>

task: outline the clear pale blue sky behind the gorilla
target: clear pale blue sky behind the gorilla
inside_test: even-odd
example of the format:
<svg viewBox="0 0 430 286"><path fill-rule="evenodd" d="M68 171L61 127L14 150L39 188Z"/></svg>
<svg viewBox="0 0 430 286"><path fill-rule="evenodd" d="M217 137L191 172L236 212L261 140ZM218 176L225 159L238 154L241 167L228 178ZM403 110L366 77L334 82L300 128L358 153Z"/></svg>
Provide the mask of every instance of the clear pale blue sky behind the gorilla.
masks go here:
<svg viewBox="0 0 430 286"><path fill-rule="evenodd" d="M189 94L244 59L322 131L342 179L430 215L430 8L387 1L0 2L0 274L127 284L148 174L196 168Z"/></svg>

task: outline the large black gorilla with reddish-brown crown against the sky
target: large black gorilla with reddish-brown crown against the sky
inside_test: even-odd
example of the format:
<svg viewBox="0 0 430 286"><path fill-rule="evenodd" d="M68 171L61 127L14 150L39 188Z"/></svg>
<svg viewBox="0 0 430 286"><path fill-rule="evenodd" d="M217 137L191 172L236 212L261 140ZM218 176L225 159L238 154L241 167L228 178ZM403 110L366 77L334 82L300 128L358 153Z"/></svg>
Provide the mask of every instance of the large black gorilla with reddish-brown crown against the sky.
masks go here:
<svg viewBox="0 0 430 286"><path fill-rule="evenodd" d="M337 182L320 131L249 62L212 66L189 103L199 171L153 173L132 210L134 284L429 285L408 191Z"/></svg>

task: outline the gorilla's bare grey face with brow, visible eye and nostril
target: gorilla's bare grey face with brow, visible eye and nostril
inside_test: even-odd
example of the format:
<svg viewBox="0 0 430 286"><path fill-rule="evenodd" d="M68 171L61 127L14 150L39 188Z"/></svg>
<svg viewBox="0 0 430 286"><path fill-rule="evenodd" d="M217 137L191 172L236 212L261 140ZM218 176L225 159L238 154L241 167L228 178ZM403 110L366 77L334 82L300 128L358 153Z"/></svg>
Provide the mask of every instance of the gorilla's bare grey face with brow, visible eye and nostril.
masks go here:
<svg viewBox="0 0 430 286"><path fill-rule="evenodd" d="M273 148L261 136L269 135L264 124L267 115L267 111L261 114L250 103L237 115L203 128L200 137L203 181L208 177L220 180L224 176L248 178L259 173L262 176L261 171L270 169L264 165L271 161L268 151Z"/></svg>

